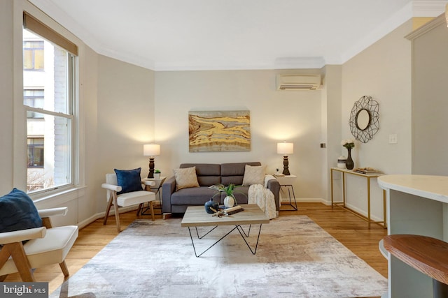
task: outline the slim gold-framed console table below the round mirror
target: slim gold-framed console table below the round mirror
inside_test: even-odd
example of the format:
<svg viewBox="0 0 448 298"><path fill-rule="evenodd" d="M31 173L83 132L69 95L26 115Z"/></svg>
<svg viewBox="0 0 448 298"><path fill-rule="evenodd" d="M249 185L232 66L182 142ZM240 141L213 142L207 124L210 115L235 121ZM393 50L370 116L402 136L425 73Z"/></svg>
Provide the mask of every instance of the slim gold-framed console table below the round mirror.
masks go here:
<svg viewBox="0 0 448 298"><path fill-rule="evenodd" d="M333 200L333 172L341 172L342 173L342 202L335 202ZM367 216L364 216L363 214L359 214L358 212L350 209L349 207L346 207L345 201L346 201L346 191L345 191L345 175L346 174L352 174L360 177L364 177L367 181ZM331 207L337 206L341 207L346 211L351 212L352 214L358 216L359 218L362 218L363 220L367 221L370 229L371 223L377 223L379 225L382 224L384 228L387 227L387 221L386 221L386 191L383 191L383 220L382 221L372 221L371 215L370 215L370 179L371 178L377 178L381 176L382 174L361 174L358 172L353 172L352 170L346 170L341 169L339 167L331 167L330 168L330 180L331 180Z"/></svg>

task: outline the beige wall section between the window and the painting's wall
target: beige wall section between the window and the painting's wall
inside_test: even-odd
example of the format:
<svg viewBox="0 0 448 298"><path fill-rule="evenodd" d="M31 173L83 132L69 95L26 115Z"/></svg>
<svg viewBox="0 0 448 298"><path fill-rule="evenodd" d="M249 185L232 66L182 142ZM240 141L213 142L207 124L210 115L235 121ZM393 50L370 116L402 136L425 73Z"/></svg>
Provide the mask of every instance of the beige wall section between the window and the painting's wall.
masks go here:
<svg viewBox="0 0 448 298"><path fill-rule="evenodd" d="M154 138L154 72L123 61L98 55L97 114L95 131L85 133L96 144L92 158L94 177L91 186L97 191L97 211L104 211L106 193L100 187L106 173L113 169L141 167L148 175L148 159L143 145ZM92 154L93 154L92 152Z"/></svg>

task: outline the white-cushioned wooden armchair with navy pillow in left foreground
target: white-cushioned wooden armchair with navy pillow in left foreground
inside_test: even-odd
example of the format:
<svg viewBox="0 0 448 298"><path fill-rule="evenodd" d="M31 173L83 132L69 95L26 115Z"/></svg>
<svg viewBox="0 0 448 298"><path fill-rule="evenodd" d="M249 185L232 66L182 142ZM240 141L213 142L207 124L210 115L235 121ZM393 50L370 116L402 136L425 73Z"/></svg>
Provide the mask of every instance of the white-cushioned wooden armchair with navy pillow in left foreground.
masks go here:
<svg viewBox="0 0 448 298"><path fill-rule="evenodd" d="M22 281L35 281L33 269L59 264L69 276L65 257L78 237L78 226L52 228L50 216L64 216L66 207L38 211L27 193L14 188L0 198L0 281L19 272Z"/></svg>

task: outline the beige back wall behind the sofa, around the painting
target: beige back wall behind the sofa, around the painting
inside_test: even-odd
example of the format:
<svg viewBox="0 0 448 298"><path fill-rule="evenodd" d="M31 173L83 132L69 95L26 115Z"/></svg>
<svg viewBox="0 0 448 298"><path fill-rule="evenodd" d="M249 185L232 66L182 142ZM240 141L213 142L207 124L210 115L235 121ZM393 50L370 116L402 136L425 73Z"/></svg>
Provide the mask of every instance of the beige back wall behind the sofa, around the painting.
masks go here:
<svg viewBox="0 0 448 298"><path fill-rule="evenodd" d="M276 91L276 73L311 70L165 71L155 73L155 159L164 175L180 163L260 161L283 169L276 143L294 143L289 170L297 198L322 198L321 91ZM320 70L312 70L319 73ZM251 151L188 152L188 111L249 110Z"/></svg>

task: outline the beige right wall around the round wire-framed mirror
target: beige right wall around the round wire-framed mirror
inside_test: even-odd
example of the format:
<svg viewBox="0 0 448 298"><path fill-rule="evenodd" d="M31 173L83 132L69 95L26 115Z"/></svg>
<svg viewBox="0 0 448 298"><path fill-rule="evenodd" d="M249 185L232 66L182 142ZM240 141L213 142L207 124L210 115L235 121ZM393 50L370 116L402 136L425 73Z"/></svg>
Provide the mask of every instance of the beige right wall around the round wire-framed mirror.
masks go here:
<svg viewBox="0 0 448 298"><path fill-rule="evenodd" d="M379 131L352 150L355 167L377 167L386 174L411 172L411 45L405 36L412 31L408 21L356 55L342 66L342 138L353 137L349 127L350 112L362 96L372 96L379 103ZM397 144L388 144L390 134ZM346 149L341 146L341 154ZM365 180L365 179L364 179ZM375 179L376 180L376 179ZM366 181L358 177L347 180L347 198L354 209L365 214ZM381 191L372 183L374 215L382 217Z"/></svg>

